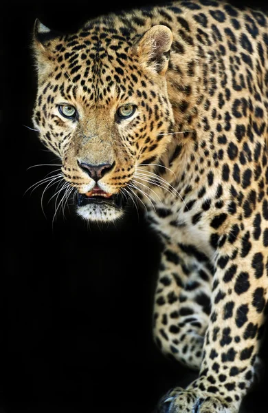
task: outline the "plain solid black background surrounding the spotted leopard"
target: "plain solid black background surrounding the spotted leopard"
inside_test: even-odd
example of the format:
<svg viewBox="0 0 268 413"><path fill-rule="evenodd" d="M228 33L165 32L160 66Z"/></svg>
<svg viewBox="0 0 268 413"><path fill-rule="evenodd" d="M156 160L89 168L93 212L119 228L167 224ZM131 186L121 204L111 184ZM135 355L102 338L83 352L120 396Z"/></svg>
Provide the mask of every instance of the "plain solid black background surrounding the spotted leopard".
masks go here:
<svg viewBox="0 0 268 413"><path fill-rule="evenodd" d="M56 169L29 167L59 163L25 127L32 127L36 93L34 20L69 32L95 15L148 3L8 1L2 9L0 407L6 413L150 413L161 394L192 378L153 343L159 245L142 214L133 209L124 222L94 226L70 207L52 224L54 187L45 192L45 215L45 186L25 193ZM266 383L267 374L249 394L245 412L267 412Z"/></svg>

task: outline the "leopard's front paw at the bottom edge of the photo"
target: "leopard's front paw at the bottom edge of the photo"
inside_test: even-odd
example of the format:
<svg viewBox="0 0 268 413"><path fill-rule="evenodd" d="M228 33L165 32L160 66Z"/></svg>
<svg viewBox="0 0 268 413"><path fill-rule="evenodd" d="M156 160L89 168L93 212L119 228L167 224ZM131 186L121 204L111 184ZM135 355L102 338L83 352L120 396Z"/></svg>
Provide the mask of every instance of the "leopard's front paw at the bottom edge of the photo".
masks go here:
<svg viewBox="0 0 268 413"><path fill-rule="evenodd" d="M198 390L175 388L161 398L156 413L237 413L225 400Z"/></svg>

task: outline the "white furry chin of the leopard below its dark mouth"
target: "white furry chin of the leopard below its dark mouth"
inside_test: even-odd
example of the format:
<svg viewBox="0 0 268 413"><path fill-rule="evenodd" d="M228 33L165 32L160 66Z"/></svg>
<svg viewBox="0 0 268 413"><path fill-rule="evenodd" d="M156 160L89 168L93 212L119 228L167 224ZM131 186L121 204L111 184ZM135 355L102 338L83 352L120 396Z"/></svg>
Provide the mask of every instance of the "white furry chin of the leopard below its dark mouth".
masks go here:
<svg viewBox="0 0 268 413"><path fill-rule="evenodd" d="M123 215L122 209L116 209L107 204L88 204L84 207L78 207L77 213L84 220L95 222L111 222L118 220Z"/></svg>

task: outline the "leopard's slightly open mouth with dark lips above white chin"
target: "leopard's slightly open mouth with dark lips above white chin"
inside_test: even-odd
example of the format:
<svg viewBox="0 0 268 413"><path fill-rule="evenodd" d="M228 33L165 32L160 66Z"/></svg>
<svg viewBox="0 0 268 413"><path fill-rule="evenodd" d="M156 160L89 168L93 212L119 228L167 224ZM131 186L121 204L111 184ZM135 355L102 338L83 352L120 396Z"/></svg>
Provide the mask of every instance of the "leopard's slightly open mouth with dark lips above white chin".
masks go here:
<svg viewBox="0 0 268 413"><path fill-rule="evenodd" d="M87 193L77 193L76 202L78 207L85 207L89 204L107 204L117 209L121 209L126 204L120 193L107 193L101 189L93 189Z"/></svg>

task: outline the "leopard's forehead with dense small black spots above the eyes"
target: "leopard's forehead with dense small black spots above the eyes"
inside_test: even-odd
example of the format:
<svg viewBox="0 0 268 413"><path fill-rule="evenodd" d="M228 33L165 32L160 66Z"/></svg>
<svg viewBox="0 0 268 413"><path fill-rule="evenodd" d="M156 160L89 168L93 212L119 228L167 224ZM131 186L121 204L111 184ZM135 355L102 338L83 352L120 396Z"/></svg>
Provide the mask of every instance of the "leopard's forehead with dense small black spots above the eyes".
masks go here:
<svg viewBox="0 0 268 413"><path fill-rule="evenodd" d="M85 106L109 105L111 96L132 96L142 76L137 58L129 53L131 43L114 32L105 26L85 28L52 47L55 81L67 81L66 93L74 98L79 87Z"/></svg>

